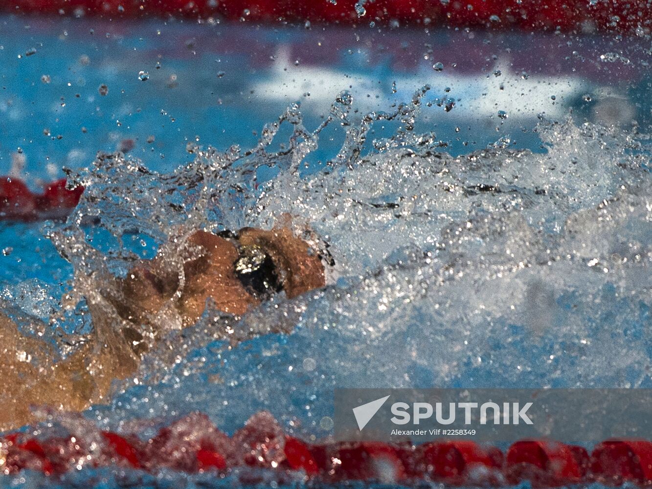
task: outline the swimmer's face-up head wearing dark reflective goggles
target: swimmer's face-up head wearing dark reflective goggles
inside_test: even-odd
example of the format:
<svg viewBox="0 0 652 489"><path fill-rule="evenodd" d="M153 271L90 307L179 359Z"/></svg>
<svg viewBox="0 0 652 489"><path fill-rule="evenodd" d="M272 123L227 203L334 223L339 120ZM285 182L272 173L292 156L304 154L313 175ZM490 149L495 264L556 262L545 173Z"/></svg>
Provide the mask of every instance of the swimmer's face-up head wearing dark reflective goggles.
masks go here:
<svg viewBox="0 0 652 489"><path fill-rule="evenodd" d="M112 301L122 318L147 322L172 303L187 326L201 317L207 299L222 312L244 314L281 291L291 299L325 286L321 255L288 228L243 228L218 235L196 231L188 244L181 251L187 257L183 284L166 254L141 261L130 271L122 282L120 303Z"/></svg>

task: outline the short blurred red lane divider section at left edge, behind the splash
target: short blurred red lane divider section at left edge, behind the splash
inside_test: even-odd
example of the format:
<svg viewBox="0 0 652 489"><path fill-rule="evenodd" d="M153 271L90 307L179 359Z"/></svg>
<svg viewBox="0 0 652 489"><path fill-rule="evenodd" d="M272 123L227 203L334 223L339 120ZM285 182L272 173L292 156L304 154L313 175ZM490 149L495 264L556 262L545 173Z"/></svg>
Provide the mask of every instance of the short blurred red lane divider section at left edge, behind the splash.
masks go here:
<svg viewBox="0 0 652 489"><path fill-rule="evenodd" d="M83 186L66 188L66 179L45 186L35 194L25 183L13 177L0 177L0 220L31 222L65 219L79 203Z"/></svg>

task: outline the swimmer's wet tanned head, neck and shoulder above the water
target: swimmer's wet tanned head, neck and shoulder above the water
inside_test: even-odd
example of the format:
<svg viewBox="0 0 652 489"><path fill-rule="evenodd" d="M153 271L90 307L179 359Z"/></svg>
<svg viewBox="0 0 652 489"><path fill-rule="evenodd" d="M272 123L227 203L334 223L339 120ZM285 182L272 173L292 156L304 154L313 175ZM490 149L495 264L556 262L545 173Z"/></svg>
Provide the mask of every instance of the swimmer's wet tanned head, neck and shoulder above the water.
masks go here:
<svg viewBox="0 0 652 489"><path fill-rule="evenodd" d="M93 336L65 360L52 361L45 342L26 336L0 315L0 431L33 421L30 406L81 411L102 402L113 379L133 374L152 338L171 316L193 325L212 299L218 310L241 315L285 291L288 298L325 286L319 255L287 228L215 235L196 231L188 238L180 274L166 252L140 261L115 287L89 300ZM120 320L107 307L115 308Z"/></svg>

